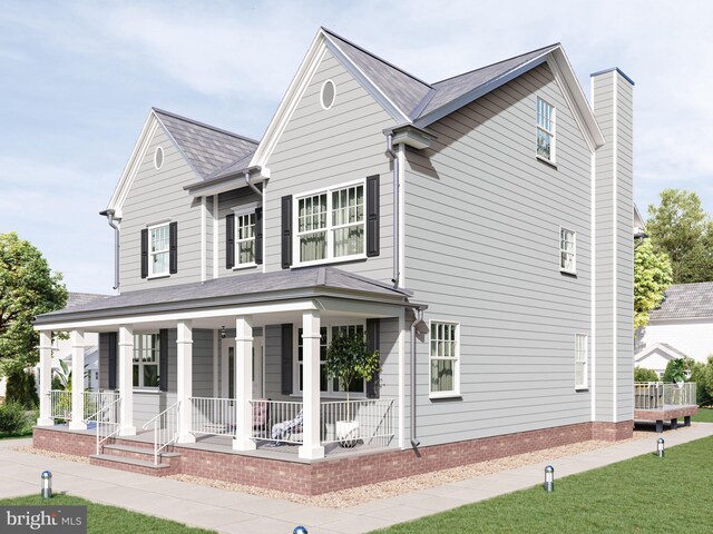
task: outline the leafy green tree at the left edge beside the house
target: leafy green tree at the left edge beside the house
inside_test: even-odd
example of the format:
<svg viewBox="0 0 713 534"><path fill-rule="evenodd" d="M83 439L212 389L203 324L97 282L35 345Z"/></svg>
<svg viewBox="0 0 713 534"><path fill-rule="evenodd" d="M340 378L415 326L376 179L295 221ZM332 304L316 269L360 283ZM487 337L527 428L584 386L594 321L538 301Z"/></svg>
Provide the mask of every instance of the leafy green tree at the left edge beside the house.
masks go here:
<svg viewBox="0 0 713 534"><path fill-rule="evenodd" d="M0 375L37 364L39 336L32 319L65 306L61 279L29 241L13 231L0 234Z"/></svg>

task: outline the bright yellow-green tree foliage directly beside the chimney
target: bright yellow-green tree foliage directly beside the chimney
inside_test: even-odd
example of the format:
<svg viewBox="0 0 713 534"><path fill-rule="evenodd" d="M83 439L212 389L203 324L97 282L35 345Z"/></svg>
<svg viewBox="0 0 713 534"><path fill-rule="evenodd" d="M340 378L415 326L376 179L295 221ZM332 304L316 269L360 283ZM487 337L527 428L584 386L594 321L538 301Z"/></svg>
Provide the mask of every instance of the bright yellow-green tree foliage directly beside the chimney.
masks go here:
<svg viewBox="0 0 713 534"><path fill-rule="evenodd" d="M634 332L648 324L648 312L663 303L672 281L668 256L644 239L634 250Z"/></svg>

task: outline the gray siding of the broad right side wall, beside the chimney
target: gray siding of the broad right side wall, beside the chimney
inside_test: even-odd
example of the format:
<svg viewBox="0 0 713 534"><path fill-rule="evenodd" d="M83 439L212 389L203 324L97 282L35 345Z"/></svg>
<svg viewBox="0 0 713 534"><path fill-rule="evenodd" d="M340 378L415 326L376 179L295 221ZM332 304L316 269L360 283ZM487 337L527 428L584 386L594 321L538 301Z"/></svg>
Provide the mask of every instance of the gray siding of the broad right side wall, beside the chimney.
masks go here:
<svg viewBox="0 0 713 534"><path fill-rule="evenodd" d="M557 167L535 157L536 99L557 109ZM409 151L406 285L427 320L460 324L460 398L429 399L419 342L423 445L590 421L575 392L575 334L590 334L590 152L547 66L451 113ZM577 276L559 270L559 227Z"/></svg>

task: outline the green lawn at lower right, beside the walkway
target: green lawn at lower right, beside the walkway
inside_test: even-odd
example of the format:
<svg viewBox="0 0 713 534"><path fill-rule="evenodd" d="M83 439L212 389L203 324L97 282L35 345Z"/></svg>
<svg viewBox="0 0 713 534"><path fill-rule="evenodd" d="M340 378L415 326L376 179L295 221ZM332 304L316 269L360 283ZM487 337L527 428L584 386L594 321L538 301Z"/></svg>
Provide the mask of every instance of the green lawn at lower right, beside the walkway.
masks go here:
<svg viewBox="0 0 713 534"><path fill-rule="evenodd" d="M556 479L554 493L538 485L377 532L711 532L711 455L707 437L664 458L652 453Z"/></svg>

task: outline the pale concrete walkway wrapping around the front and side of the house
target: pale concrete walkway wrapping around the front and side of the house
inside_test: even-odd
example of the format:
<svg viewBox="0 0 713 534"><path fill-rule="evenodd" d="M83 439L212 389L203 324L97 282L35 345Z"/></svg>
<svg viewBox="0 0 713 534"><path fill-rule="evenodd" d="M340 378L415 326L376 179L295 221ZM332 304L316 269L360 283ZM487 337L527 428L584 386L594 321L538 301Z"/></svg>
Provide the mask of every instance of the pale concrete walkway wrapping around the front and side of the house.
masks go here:
<svg viewBox="0 0 713 534"><path fill-rule="evenodd" d="M666 448L713 435L713 423L696 423L663 434ZM557 478L642 454L653 454L661 434L551 462ZM173 479L156 478L89 464L19 453L29 439L0 441L0 498L39 493L40 473L50 469L55 492L157 515L224 533L284 533L296 525L310 534L369 532L463 504L543 483L545 464L535 464L467 481L382 498L343 510L318 508ZM91 518L89 518L91 521Z"/></svg>

